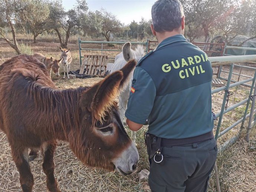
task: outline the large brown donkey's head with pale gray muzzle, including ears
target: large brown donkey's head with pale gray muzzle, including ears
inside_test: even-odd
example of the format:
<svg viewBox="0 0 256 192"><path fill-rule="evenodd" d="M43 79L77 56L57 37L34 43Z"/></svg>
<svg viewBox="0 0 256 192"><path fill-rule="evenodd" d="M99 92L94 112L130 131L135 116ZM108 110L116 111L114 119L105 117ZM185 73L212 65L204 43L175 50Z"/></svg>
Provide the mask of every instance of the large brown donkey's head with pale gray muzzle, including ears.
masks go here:
<svg viewBox="0 0 256 192"><path fill-rule="evenodd" d="M127 175L136 168L139 155L125 132L115 102L135 60L83 91L79 99L79 133L70 135L70 147L86 165ZM72 139L73 137L73 139Z"/></svg>

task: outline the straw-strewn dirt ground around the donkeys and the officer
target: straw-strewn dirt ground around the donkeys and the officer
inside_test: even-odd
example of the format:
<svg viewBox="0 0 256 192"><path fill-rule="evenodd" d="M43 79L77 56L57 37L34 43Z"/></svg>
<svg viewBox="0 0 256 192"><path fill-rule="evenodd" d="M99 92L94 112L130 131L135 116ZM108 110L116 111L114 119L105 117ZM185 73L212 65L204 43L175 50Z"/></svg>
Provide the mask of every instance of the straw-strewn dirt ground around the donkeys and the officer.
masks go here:
<svg viewBox="0 0 256 192"><path fill-rule="evenodd" d="M25 42L26 43L26 42ZM39 52L50 57L59 58L60 50L58 43L31 43L30 46L34 53ZM69 44L71 54L73 57L71 70L77 70L80 67L79 64L79 51L78 44ZM101 48L100 45L83 45L83 47ZM121 49L122 45L115 47L104 47L105 49ZM114 57L119 52L106 52L109 57ZM96 51L83 51L82 54L101 54ZM5 60L16 55L14 50L10 48L7 43L0 41L0 64ZM229 70L229 66L224 66L224 70ZM62 69L60 69L62 72ZM239 67L234 68L235 73L240 72ZM253 76L254 71L243 69L243 75ZM227 73L222 73L222 77L227 77ZM52 74L53 82L56 83L61 89L79 87L79 86L91 86L98 82L102 78L96 77L91 79L62 79ZM237 80L237 76L233 76L233 80ZM241 77L244 79L244 77ZM224 83L226 83L223 80ZM213 89L216 87L213 87ZM244 86L234 87L231 89L234 94L230 96L228 105L234 105L243 99L248 97L249 88ZM221 109L221 103L223 102L224 91L213 94L213 112L217 113ZM232 125L239 120L244 113L244 105L238 107L224 115L221 124L221 130ZM214 132L216 130L217 121L214 122ZM244 131L247 128L245 123ZM226 135L218 139L218 143L224 143L231 138L240 129L240 125L230 130ZM147 162L146 149L144 146L143 133L147 130L144 126L143 129L137 133L137 148L140 154L140 162L137 171L130 176L123 177L119 173L109 173L99 169L92 169L83 166L69 149L68 143L59 142L58 148L55 152L55 177L57 178L60 186L60 190L63 192L142 192L142 188L147 185L147 182L138 182L138 172L142 169L149 169ZM220 130L220 131L221 131ZM221 189L223 192L255 192L256 184L256 152L250 150L250 147L256 145L256 134L251 133L252 137L249 143L243 141L236 143L232 147L228 148L225 152L218 155L218 168L219 177L221 182ZM30 168L34 175L35 185L34 191L43 192L46 191L45 174L42 170L42 155L40 154L34 161L30 162ZM210 192L216 191L214 176L210 179ZM3 192L18 192L21 191L19 184L19 173L12 161L10 154L10 148L8 141L3 132L0 132L0 191Z"/></svg>

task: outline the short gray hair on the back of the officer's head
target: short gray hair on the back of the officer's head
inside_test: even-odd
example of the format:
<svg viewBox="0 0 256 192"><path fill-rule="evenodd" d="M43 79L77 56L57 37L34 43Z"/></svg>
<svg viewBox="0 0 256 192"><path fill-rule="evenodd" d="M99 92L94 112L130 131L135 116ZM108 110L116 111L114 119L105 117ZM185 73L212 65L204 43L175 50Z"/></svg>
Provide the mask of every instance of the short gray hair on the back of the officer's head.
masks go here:
<svg viewBox="0 0 256 192"><path fill-rule="evenodd" d="M151 15L156 32L171 32L181 26L184 12L179 0L158 0L152 6Z"/></svg>

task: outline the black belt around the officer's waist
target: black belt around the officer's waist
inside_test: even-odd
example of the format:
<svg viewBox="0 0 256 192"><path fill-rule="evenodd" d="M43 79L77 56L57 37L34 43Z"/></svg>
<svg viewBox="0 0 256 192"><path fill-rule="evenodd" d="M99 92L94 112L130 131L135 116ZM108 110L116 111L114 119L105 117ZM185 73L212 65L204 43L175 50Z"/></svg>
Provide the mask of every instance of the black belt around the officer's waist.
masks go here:
<svg viewBox="0 0 256 192"><path fill-rule="evenodd" d="M177 145L189 145L192 143L203 142L208 139L214 138L213 132L205 133L203 135L184 138L184 139L165 139L161 138L161 146L177 146Z"/></svg>

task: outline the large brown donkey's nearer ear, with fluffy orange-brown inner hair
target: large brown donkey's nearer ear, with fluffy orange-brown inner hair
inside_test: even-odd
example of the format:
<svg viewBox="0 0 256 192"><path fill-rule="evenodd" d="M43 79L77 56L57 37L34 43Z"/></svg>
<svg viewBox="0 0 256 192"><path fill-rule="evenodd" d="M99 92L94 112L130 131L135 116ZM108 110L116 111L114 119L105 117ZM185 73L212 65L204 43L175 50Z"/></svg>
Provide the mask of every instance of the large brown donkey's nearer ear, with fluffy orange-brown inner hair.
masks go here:
<svg viewBox="0 0 256 192"><path fill-rule="evenodd" d="M108 75L104 80L82 93L79 101L80 106L86 107L95 120L101 121L105 117L106 111L114 103L122 79L123 73L121 71Z"/></svg>

